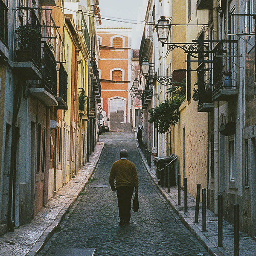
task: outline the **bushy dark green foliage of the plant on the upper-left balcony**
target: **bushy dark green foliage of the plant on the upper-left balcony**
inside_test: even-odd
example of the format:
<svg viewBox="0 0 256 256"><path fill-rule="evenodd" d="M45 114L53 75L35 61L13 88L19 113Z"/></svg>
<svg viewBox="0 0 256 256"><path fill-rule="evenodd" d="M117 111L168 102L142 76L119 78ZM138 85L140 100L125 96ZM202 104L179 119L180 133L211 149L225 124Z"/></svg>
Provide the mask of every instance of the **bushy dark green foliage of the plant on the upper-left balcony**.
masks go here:
<svg viewBox="0 0 256 256"><path fill-rule="evenodd" d="M41 41L41 32L31 24L19 26L15 29L16 39L20 49L32 49Z"/></svg>

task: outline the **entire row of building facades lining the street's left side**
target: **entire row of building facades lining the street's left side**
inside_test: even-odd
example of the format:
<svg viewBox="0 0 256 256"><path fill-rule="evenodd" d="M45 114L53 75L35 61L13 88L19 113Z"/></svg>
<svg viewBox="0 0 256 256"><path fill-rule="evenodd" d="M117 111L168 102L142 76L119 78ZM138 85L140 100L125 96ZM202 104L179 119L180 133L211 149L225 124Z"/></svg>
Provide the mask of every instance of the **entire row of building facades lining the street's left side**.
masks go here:
<svg viewBox="0 0 256 256"><path fill-rule="evenodd" d="M75 2L0 1L0 233L30 222L97 141L99 2Z"/></svg>

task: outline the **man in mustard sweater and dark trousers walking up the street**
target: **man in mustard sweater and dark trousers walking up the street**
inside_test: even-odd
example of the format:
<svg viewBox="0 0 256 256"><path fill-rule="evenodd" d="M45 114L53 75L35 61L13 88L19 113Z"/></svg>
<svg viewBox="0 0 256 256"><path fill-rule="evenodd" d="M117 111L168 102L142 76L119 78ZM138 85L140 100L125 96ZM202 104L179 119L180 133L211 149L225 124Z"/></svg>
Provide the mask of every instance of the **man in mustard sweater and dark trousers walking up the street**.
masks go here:
<svg viewBox="0 0 256 256"><path fill-rule="evenodd" d="M131 219L131 198L135 190L138 195L139 180L136 166L127 160L128 152L120 151L120 159L113 163L109 175L109 184L113 192L116 191L119 210L119 225L129 224Z"/></svg>

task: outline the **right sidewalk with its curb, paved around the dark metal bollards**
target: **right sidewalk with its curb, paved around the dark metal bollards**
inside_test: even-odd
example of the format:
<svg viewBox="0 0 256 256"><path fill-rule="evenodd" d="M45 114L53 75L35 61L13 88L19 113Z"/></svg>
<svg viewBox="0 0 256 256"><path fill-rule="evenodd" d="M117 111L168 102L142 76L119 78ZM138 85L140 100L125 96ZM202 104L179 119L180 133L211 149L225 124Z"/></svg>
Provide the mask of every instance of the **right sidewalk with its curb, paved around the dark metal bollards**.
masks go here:
<svg viewBox="0 0 256 256"><path fill-rule="evenodd" d="M157 184L155 176L154 164L149 168L145 158L138 148L145 167L154 181L155 185L162 193L164 198L169 202L175 213L179 215L180 220L186 228L195 235L198 241L204 245L212 256L233 256L233 226L223 220L223 247L218 247L218 216L207 209L207 231L202 232L202 206L200 204L198 223L194 223L195 219L195 198L188 194L188 212L184 212L184 191L181 190L181 204L178 205L177 186L162 188ZM240 232L240 256L256 256L256 241Z"/></svg>

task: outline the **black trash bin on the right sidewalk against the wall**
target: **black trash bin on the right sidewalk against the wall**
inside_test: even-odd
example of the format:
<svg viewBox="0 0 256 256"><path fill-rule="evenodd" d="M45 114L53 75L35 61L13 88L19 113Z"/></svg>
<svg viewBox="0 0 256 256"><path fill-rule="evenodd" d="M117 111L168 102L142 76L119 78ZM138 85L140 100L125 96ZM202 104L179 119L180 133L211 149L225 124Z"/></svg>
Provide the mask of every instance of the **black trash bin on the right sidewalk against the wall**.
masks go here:
<svg viewBox="0 0 256 256"><path fill-rule="evenodd" d="M158 169L157 181L158 181L158 184L161 185L162 187L168 186L168 167L166 168L166 171L165 171L164 169L165 164L167 165L175 158L176 158L175 155L171 155L169 157L156 157L154 159L155 166ZM170 176L169 176L170 186L176 186L175 161L173 161L169 166L170 166Z"/></svg>

